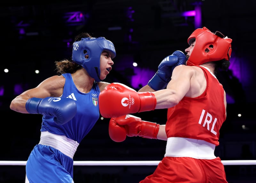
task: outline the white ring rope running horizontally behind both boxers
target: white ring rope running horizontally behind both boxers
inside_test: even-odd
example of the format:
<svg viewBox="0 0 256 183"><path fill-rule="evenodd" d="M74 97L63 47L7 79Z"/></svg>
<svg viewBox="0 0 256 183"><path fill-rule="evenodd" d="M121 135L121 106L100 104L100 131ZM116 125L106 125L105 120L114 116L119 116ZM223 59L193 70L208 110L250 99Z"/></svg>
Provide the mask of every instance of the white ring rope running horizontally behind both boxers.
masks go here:
<svg viewBox="0 0 256 183"><path fill-rule="evenodd" d="M160 161L74 161L75 166L155 166ZM256 165L256 160L222 160L223 165ZM26 165L27 161L0 161L0 165Z"/></svg>

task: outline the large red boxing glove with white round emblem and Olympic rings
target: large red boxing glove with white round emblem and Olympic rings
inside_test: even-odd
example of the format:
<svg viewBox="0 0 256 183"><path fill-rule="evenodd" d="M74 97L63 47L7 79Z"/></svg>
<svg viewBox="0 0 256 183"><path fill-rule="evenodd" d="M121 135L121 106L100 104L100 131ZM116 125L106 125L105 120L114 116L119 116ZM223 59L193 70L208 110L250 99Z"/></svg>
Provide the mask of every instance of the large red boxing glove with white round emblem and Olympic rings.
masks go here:
<svg viewBox="0 0 256 183"><path fill-rule="evenodd" d="M104 118L152 111L156 108L156 97L152 92L138 93L124 84L111 83L100 92L99 108Z"/></svg>

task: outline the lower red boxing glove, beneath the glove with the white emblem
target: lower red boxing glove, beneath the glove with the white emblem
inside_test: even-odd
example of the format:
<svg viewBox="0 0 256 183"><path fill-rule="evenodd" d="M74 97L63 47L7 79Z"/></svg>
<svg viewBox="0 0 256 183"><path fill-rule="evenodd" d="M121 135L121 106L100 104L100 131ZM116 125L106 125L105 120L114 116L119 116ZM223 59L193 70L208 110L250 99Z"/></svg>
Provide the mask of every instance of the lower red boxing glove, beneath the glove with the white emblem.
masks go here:
<svg viewBox="0 0 256 183"><path fill-rule="evenodd" d="M110 138L115 142L122 142L128 137L140 136L148 139L157 139L159 124L143 121L130 114L111 118L108 126Z"/></svg>

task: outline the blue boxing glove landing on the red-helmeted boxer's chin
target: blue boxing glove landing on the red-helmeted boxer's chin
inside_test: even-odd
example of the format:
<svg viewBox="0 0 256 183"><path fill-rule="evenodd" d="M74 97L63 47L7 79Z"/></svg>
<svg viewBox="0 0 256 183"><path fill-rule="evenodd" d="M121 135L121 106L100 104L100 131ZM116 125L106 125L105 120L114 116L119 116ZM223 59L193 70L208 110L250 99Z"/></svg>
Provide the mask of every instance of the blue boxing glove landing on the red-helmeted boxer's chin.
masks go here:
<svg viewBox="0 0 256 183"><path fill-rule="evenodd" d="M182 51L174 51L158 65L158 71L148 81L148 86L154 90L166 88L172 77L172 71L177 65L185 65L188 58Z"/></svg>

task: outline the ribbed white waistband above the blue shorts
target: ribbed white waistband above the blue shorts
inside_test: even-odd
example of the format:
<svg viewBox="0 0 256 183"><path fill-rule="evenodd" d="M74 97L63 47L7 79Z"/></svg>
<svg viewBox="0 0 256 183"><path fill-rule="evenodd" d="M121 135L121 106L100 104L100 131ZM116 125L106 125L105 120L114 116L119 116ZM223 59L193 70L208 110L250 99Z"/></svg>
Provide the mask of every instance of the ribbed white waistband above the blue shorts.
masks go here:
<svg viewBox="0 0 256 183"><path fill-rule="evenodd" d="M65 135L56 135L48 131L41 132L39 144L51 146L73 159L79 143Z"/></svg>

